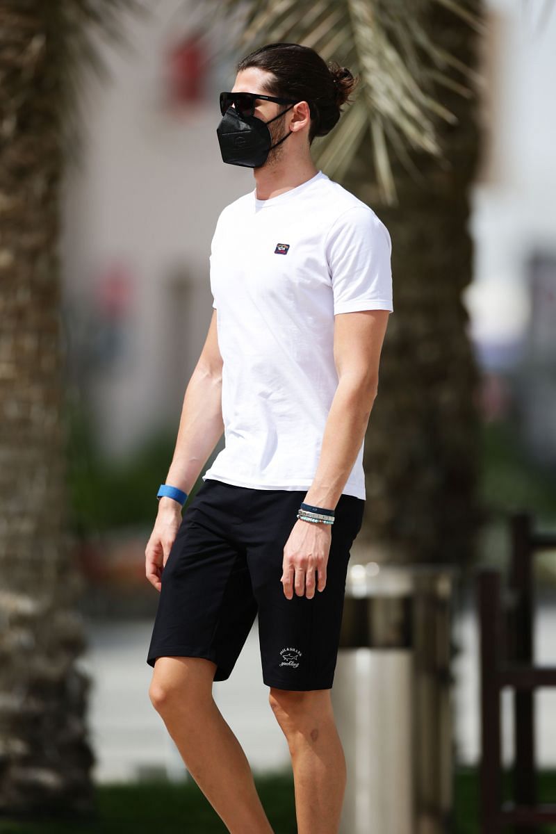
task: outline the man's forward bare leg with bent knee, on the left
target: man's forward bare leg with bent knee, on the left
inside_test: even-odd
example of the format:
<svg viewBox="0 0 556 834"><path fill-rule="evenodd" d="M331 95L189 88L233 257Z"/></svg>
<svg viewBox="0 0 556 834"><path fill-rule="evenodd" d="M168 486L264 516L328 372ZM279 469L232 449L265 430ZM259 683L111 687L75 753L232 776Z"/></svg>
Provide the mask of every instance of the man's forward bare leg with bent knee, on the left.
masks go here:
<svg viewBox="0 0 556 834"><path fill-rule="evenodd" d="M213 699L215 671L203 657L159 657L148 696L228 831L273 834L247 757Z"/></svg>

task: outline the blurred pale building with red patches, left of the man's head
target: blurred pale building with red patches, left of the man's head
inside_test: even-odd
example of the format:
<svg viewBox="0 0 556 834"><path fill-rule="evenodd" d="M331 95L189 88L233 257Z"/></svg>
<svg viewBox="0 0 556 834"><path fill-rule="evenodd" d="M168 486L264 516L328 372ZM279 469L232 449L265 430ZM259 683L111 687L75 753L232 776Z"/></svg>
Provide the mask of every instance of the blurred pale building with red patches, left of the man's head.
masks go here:
<svg viewBox="0 0 556 834"><path fill-rule="evenodd" d="M63 264L70 364L105 455L178 421L213 313L209 254L222 208L254 188L224 165L214 56L197 7L161 0L100 46L110 78L82 98L83 156L67 183ZM169 463L169 461L168 461Z"/></svg>

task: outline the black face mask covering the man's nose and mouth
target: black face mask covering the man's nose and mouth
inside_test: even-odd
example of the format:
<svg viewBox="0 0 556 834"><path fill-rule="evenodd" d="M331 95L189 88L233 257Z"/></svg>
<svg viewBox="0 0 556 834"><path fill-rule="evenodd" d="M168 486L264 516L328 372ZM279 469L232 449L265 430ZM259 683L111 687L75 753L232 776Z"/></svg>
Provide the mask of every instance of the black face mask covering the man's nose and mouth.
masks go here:
<svg viewBox="0 0 556 834"><path fill-rule="evenodd" d="M245 168L259 168L263 165L271 148L276 148L276 145L293 133L290 130L280 142L272 144L273 138L267 125L293 107L292 104L268 122L256 116L242 116L236 108L229 107L216 128L223 162L243 165Z"/></svg>

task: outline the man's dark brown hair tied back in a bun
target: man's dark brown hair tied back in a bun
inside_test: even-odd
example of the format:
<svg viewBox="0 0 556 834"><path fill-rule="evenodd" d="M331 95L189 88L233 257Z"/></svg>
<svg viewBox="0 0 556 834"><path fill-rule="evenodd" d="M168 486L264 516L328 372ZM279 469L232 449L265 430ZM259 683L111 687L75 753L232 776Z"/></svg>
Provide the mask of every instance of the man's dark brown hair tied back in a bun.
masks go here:
<svg viewBox="0 0 556 834"><path fill-rule="evenodd" d="M330 133L341 116L342 105L357 86L347 67L323 61L314 49L299 43L267 43L246 55L236 72L258 67L272 73L261 93L306 101L311 111L309 144L315 136ZM253 90L253 92L259 92Z"/></svg>

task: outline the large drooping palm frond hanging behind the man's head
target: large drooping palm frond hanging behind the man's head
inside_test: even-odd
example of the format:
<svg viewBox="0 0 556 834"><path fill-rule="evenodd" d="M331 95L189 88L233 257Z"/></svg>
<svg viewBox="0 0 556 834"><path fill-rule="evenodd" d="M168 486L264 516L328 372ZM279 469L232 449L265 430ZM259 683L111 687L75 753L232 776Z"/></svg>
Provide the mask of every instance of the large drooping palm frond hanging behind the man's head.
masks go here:
<svg viewBox="0 0 556 834"><path fill-rule="evenodd" d="M263 43L301 43L359 76L343 118L327 137L315 140L314 162L341 178L369 143L381 198L395 203L388 148L408 169L415 169L408 148L440 161L436 119L457 122L434 95L433 84L468 98L482 81L475 69L431 41L423 17L434 3L484 33L482 19L465 0L206 0L205 9L208 22L215 14L225 20L238 16L228 58L237 60Z"/></svg>

